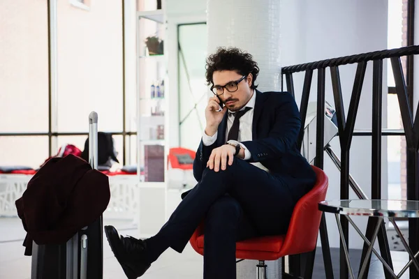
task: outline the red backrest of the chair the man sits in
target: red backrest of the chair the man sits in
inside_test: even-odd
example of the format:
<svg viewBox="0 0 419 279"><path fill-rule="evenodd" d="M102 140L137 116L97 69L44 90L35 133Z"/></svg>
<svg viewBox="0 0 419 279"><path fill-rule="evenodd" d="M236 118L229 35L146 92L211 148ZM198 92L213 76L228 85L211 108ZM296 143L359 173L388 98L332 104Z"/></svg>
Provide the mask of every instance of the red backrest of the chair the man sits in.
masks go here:
<svg viewBox="0 0 419 279"><path fill-rule="evenodd" d="M323 170L312 167L317 175L316 185L295 205L281 254L295 255L316 247L322 214L318 202L325 200L329 180Z"/></svg>

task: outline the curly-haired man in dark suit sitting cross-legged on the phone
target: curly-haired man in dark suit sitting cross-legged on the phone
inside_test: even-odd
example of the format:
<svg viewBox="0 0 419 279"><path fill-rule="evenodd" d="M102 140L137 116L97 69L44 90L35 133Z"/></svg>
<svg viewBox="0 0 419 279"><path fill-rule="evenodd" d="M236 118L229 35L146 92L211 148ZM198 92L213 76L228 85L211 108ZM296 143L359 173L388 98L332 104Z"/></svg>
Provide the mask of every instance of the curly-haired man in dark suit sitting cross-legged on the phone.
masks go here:
<svg viewBox="0 0 419 279"><path fill-rule="evenodd" d="M297 149L301 121L291 94L257 91L257 63L234 47L219 48L206 68L214 96L193 162L198 184L150 239L105 227L128 278L145 273L169 247L182 252L204 219L204 278L235 278L235 242L285 234L297 200L316 181Z"/></svg>

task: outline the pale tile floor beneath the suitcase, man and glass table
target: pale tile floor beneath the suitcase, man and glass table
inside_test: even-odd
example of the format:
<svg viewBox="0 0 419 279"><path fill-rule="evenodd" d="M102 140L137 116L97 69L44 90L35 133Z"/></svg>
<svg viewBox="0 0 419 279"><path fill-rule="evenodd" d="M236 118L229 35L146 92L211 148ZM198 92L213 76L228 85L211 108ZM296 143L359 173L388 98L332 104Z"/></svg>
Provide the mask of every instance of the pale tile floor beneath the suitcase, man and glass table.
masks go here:
<svg viewBox="0 0 419 279"><path fill-rule="evenodd" d="M175 196L177 197L177 195ZM177 202L179 202L179 199L168 201L168 207L174 209ZM137 234L135 226L130 221L105 219L103 220L103 223L104 225L115 225L121 234L133 236ZM0 218L0 279L29 279L31 277L31 257L23 255L24 247L22 246L22 242L25 234L26 232L24 232L19 218ZM107 241L105 241L103 248L103 278L126 278L122 268L113 256ZM331 252L335 278L339 278L339 250L335 248L332 249ZM399 271L407 262L408 257L406 252L392 251L392 259L396 271ZM353 263L353 266L359 266L359 261L360 250L351 250L351 262ZM242 262L237 266L244 266L244 263L245 262ZM244 277L241 276L241 279L256 278L256 272L253 271L253 263L250 263L249 266L251 266L251 269L246 272ZM241 267L239 267L239 269L240 268ZM238 274L243 274L243 272L239 272ZM409 271L407 271L402 278L409 278L408 274ZM253 275L255 276L253 277ZM152 264L142 278L203 278L203 257L194 252L189 245L186 246L182 255L168 249L157 262ZM273 276L272 278L278 278L278 276ZM325 278L321 249L316 250L313 278ZM383 268L375 257L372 259L368 278L384 278Z"/></svg>

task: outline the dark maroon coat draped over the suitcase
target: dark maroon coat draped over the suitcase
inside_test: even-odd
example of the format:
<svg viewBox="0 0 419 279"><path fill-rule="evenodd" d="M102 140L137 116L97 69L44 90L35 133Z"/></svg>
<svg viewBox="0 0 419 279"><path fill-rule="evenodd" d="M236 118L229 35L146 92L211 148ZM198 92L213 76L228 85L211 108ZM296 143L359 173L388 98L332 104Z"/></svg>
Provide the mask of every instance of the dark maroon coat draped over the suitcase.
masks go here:
<svg viewBox="0 0 419 279"><path fill-rule="evenodd" d="M25 255L37 244L60 244L93 223L110 200L108 176L73 155L52 158L36 172L15 202L27 231Z"/></svg>

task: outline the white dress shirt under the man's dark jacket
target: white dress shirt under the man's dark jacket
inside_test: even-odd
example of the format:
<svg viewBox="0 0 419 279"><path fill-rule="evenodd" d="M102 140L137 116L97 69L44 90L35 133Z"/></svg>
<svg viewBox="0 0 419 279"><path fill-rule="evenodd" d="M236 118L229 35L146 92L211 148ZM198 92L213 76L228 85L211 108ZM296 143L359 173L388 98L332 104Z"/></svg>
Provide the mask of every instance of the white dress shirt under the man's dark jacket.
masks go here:
<svg viewBox="0 0 419 279"><path fill-rule="evenodd" d="M247 111L239 119L240 127L239 127L239 137L238 137L237 141L240 142L240 145L244 149L244 160L249 160L250 157L251 157L251 153L250 153L249 149L247 149L246 146L244 146L244 144L242 144L241 142L246 142L248 140L253 140L252 139L251 128L252 128L252 124L253 124L253 112L254 112L254 108L255 108L255 103L256 103L256 91L253 90L253 93L252 93L252 96L251 96L249 102L247 102L247 104L244 105L244 107L242 108L242 110L244 110L245 107L251 107L251 110ZM227 130L226 130L226 142L227 142L228 131L230 131L231 126L233 126L234 112L230 112L230 110L228 110L228 112L226 112L226 113L228 113ZM203 144L205 146L210 146L211 144L214 144L214 142L216 141L216 136L217 135L218 135L218 131L215 132L215 134L212 135L212 137L210 137L209 135L205 134L205 130L204 130ZM267 168L265 166L263 166L261 163L251 163L251 164L255 165L256 167L259 167L260 169L268 171Z"/></svg>

